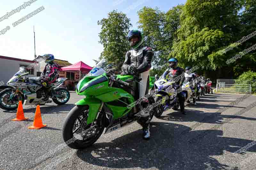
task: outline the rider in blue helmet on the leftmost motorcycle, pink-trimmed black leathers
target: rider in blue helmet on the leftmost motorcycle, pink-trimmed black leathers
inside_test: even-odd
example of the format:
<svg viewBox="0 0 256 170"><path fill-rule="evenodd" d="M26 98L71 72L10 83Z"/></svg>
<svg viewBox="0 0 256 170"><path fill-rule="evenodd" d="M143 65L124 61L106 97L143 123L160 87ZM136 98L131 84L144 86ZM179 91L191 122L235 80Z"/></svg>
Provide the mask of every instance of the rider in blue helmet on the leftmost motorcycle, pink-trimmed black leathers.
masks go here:
<svg viewBox="0 0 256 170"><path fill-rule="evenodd" d="M45 54L43 57L46 57L44 71L41 73L41 83L43 86L45 99L49 98L50 86L52 82L59 78L59 65L53 63L54 56L52 54ZM51 98L53 97L53 92L51 91Z"/></svg>

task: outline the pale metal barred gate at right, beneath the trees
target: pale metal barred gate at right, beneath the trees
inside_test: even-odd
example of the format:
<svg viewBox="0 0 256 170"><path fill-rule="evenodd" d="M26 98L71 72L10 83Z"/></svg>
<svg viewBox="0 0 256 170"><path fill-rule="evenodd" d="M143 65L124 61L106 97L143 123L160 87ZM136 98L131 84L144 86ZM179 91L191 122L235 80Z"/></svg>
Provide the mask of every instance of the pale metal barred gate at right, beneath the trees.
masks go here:
<svg viewBox="0 0 256 170"><path fill-rule="evenodd" d="M230 82L230 81L229 81ZM233 81L231 81L233 83ZM230 83L231 83L230 82ZM252 86L248 84L226 84L223 79L217 79L216 92L226 93L248 93L252 94Z"/></svg>

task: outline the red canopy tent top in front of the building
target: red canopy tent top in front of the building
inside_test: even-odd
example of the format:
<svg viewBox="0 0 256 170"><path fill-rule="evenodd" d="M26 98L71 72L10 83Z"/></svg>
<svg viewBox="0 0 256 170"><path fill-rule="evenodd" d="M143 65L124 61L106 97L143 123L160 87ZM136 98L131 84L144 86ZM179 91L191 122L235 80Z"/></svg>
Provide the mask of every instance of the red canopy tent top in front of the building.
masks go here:
<svg viewBox="0 0 256 170"><path fill-rule="evenodd" d="M89 72L90 70L92 70L92 67L90 67L89 65L85 64L84 62L80 61L77 62L73 65L67 66L67 67L61 67L60 71L80 71L79 72L79 79L81 79L81 72Z"/></svg>

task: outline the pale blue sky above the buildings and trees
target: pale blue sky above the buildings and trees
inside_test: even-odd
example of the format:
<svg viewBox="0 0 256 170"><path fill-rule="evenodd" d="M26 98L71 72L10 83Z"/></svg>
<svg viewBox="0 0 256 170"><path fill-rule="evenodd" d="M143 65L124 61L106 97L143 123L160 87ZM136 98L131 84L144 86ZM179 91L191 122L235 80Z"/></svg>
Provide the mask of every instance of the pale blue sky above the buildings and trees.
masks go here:
<svg viewBox="0 0 256 170"><path fill-rule="evenodd" d="M0 17L29 0L9 0L1 3ZM184 4L185 0L111 0L111 1L52 1L37 0L20 12L0 22L0 30L10 26L0 35L0 55L21 59L34 59L34 33L36 32L36 55L53 54L55 58L74 64L78 61L94 66L92 59L98 59L103 46L98 43L100 26L97 21L106 18L108 12L116 9L125 11L136 29L137 11L143 6L159 7L168 11L173 6ZM13 27L12 23L37 8L44 10ZM129 10L127 10L129 9Z"/></svg>

